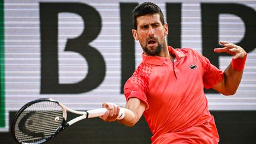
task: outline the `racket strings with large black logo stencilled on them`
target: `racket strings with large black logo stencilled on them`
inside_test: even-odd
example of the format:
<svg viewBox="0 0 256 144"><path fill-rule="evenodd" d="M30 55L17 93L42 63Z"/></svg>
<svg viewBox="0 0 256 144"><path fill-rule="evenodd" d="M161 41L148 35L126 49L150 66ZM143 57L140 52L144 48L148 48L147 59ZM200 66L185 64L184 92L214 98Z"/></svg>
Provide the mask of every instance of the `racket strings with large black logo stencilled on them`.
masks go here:
<svg viewBox="0 0 256 144"><path fill-rule="evenodd" d="M15 124L15 137L19 142L37 143L55 135L61 126L62 107L52 101L41 101L25 108Z"/></svg>

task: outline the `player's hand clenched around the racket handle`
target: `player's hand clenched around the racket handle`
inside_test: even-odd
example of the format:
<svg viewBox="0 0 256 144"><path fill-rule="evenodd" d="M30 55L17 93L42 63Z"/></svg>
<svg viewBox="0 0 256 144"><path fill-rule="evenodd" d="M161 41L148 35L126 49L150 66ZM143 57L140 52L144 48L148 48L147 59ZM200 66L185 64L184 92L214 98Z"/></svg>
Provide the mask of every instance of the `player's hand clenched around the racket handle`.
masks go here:
<svg viewBox="0 0 256 144"><path fill-rule="evenodd" d="M103 107L107 108L107 112L100 118L104 121L115 121L119 115L120 107L113 103L103 103Z"/></svg>

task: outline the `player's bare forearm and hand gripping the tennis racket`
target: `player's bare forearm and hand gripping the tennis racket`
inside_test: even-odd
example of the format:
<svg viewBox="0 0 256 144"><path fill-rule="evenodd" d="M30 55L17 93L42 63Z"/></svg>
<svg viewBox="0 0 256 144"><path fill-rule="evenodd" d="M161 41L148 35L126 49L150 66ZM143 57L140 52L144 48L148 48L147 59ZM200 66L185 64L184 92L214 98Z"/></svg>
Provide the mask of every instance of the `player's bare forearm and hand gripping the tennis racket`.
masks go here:
<svg viewBox="0 0 256 144"><path fill-rule="evenodd" d="M116 105L111 103L103 103L103 107L107 108L108 111L100 118L108 122L115 121L119 114L120 107L116 107ZM126 103L126 107L123 109L124 119L117 121L131 127L134 126L137 121L139 121L140 117L142 117L142 114L146 110L146 104L144 104L138 98L133 97L129 98Z"/></svg>

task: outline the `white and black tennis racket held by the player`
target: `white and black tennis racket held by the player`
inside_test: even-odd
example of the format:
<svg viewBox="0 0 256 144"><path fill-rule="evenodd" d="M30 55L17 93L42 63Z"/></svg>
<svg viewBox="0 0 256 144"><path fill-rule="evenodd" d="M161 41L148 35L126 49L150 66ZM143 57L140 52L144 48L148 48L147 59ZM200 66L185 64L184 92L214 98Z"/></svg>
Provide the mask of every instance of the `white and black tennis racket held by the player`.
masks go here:
<svg viewBox="0 0 256 144"><path fill-rule="evenodd" d="M81 116L67 122L67 111ZM76 111L51 98L40 98L25 104L15 114L11 128L12 136L18 143L43 143L73 123L103 116L106 111L106 108ZM120 108L117 119L123 119L123 117L124 110Z"/></svg>

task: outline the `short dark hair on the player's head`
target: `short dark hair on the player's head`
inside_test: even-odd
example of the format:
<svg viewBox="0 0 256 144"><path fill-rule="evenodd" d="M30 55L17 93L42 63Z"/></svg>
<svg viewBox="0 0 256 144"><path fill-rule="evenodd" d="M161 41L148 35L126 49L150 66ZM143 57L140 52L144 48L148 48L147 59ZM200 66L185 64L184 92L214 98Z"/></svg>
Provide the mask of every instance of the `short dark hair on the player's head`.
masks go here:
<svg viewBox="0 0 256 144"><path fill-rule="evenodd" d="M135 30L137 30L137 18L147 14L159 14L162 25L165 24L164 14L158 5L152 2L143 2L133 9L133 27Z"/></svg>

